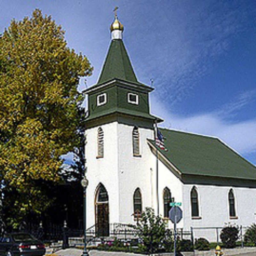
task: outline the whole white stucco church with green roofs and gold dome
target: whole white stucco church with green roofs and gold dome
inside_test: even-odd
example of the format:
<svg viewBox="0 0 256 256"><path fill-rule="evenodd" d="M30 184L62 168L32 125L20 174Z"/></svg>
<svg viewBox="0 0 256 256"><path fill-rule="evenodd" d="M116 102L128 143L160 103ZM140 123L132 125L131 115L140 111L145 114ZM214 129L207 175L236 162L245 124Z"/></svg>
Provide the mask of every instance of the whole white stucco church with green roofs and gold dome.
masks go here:
<svg viewBox="0 0 256 256"><path fill-rule="evenodd" d="M86 227L108 236L112 224L135 224L152 207L173 228L170 202L181 203L177 228L184 231L250 226L256 217L256 167L215 137L158 128L164 139L156 140L163 120L150 114L154 88L137 80L123 30L115 15L98 82L84 91ZM197 230L195 237L216 241L211 229Z"/></svg>

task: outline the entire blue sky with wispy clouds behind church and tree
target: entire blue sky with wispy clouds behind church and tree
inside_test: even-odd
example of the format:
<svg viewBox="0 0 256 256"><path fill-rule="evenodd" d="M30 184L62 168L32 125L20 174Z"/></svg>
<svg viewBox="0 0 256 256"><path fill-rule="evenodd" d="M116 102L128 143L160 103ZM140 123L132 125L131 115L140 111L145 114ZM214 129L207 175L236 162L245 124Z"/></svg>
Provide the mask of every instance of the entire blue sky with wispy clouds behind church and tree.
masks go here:
<svg viewBox="0 0 256 256"><path fill-rule="evenodd" d="M256 1L0 0L0 31L35 8L88 57L97 82L115 6L138 80L155 91L151 113L166 128L217 136L256 164Z"/></svg>

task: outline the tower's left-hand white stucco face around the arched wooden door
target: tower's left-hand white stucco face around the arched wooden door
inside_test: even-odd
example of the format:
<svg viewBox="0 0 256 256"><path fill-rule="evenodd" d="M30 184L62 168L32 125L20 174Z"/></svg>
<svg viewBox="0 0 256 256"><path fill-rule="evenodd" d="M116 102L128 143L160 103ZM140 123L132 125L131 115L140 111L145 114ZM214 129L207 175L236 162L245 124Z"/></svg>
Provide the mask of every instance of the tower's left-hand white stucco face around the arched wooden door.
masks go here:
<svg viewBox="0 0 256 256"><path fill-rule="evenodd" d="M104 132L104 157L98 155L97 134L101 127ZM96 188L101 182L108 192L109 222L119 218L118 164L117 164L117 122L87 129L85 159L87 166L86 227L95 224L94 200Z"/></svg>

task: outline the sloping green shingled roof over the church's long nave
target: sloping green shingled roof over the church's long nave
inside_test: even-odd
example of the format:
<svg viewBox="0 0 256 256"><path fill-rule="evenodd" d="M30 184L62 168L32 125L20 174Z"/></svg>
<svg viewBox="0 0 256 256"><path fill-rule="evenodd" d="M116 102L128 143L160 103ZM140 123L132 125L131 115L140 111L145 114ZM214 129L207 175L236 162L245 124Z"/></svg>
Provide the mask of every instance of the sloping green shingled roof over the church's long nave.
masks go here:
<svg viewBox="0 0 256 256"><path fill-rule="evenodd" d="M159 129L168 151L159 151L181 174L255 179L256 166L239 156L218 138ZM149 140L155 146L154 140Z"/></svg>

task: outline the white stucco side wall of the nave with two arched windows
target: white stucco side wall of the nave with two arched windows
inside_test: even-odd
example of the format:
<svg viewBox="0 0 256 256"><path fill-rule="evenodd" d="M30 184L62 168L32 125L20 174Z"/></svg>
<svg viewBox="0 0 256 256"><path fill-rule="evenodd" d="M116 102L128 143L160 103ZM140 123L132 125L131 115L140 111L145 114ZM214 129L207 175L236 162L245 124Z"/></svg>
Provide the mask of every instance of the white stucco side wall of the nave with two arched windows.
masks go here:
<svg viewBox="0 0 256 256"><path fill-rule="evenodd" d="M193 186L183 185L184 230L190 230L190 227L224 227L228 223L235 226L250 226L255 222L255 188L195 185L198 191L199 216L201 218L193 219L190 203L190 191ZM235 196L237 219L229 217L228 192L230 188L233 189ZM194 236L205 237L210 241L217 240L216 229L195 230Z"/></svg>

